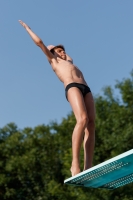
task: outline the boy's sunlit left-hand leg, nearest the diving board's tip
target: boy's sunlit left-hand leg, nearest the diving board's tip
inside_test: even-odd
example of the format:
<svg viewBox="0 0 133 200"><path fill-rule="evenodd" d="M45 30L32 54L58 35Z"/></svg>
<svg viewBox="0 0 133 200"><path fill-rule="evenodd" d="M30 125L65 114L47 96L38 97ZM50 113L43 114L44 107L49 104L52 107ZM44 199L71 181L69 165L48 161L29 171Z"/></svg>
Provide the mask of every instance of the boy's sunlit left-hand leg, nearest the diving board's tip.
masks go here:
<svg viewBox="0 0 133 200"><path fill-rule="evenodd" d="M80 154L80 147L83 141L84 130L88 124L88 116L84 98L78 88L76 87L70 88L68 90L67 97L77 121L72 135L71 173L72 176L74 176L80 173L79 154Z"/></svg>

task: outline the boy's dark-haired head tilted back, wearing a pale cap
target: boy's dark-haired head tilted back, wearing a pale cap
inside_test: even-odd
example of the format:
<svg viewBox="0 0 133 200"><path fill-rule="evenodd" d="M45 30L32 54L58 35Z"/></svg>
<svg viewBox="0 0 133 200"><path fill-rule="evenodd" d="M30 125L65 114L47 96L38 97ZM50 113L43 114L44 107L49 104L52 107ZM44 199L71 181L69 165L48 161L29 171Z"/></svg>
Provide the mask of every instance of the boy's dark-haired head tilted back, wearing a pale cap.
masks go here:
<svg viewBox="0 0 133 200"><path fill-rule="evenodd" d="M57 46L49 45L47 48L56 57L60 57L61 59L66 60L65 48L63 45L57 45Z"/></svg>

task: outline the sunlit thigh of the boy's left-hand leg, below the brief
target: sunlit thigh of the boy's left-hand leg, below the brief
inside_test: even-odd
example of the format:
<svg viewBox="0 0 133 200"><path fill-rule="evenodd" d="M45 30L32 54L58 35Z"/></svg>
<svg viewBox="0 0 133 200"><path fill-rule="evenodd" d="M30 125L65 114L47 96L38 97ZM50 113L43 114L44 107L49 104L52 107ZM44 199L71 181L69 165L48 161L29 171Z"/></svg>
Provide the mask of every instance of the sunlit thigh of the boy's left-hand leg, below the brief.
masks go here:
<svg viewBox="0 0 133 200"><path fill-rule="evenodd" d="M71 87L67 92L67 97L76 120L87 117L87 110L81 91L76 87Z"/></svg>

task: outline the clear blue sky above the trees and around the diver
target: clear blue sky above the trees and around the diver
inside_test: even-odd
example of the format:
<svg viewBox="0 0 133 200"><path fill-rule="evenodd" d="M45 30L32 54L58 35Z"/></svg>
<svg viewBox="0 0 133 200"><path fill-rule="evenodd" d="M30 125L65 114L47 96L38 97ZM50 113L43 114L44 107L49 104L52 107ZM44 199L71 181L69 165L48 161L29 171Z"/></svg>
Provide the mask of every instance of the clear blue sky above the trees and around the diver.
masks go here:
<svg viewBox="0 0 133 200"><path fill-rule="evenodd" d="M60 123L71 112L63 84L18 20L45 45L65 46L93 96L130 77L132 0L1 0L0 8L0 128Z"/></svg>

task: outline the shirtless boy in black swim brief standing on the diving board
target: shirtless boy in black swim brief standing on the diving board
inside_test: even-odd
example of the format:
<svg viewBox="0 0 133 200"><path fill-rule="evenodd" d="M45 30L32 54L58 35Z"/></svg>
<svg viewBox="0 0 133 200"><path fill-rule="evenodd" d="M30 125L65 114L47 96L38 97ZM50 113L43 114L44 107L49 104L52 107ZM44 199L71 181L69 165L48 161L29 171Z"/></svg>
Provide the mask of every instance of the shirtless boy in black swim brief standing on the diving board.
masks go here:
<svg viewBox="0 0 133 200"><path fill-rule="evenodd" d="M21 20L19 22L29 33L35 44L42 49L53 71L64 84L66 98L76 118L76 125L72 134L72 164L70 169L72 176L74 176L80 173L79 154L83 138L83 170L92 167L95 143L95 106L92 93L82 72L73 64L63 45L49 45L46 47L27 24Z"/></svg>

